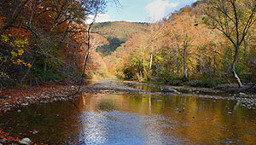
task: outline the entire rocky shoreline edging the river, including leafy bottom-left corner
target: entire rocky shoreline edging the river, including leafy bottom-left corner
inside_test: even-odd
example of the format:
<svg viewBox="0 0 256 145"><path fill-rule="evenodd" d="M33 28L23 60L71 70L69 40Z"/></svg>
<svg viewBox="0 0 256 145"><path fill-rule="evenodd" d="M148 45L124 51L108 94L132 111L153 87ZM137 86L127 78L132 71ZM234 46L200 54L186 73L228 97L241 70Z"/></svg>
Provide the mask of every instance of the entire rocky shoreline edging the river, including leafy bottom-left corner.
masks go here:
<svg viewBox="0 0 256 145"><path fill-rule="evenodd" d="M172 88L181 92L178 96L195 96L204 97L211 99L226 99L226 100L236 100L240 102L243 106L255 109L256 101L254 99L255 95L248 94L228 94L229 96L223 97L218 96L223 93L230 93L230 90L224 90L227 86L223 86L217 89L208 88L194 88L194 87L183 87L183 86L169 86L160 84L143 84L137 82L95 82L88 85L84 85L79 90L80 93L89 94L119 94L119 93L129 93L129 94L148 94L148 95L163 95L163 96L176 96L177 93L171 92L152 92L143 89L136 89L130 87L127 84L140 84L140 85L151 85L154 87L159 87L160 89ZM63 102L73 100L76 96L73 94L78 90L79 86L75 85L58 85L58 84L46 84L38 87L31 88L11 88L11 89L0 89L0 116L5 113L9 113L19 107L26 107L31 104L47 103L47 102ZM236 88L231 88L235 90ZM212 94L207 95L204 93ZM17 110L19 112L20 110ZM4 132L5 129L0 128L0 143L9 142L17 143L20 141L19 138L9 136L9 133ZM3 143L4 144L4 143Z"/></svg>

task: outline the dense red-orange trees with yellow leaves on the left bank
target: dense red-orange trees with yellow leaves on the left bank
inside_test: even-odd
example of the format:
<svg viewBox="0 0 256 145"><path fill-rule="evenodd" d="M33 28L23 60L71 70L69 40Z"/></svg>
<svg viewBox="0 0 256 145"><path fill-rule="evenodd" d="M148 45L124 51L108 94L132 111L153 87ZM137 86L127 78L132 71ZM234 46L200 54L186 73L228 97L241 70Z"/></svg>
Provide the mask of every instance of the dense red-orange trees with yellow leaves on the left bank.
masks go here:
<svg viewBox="0 0 256 145"><path fill-rule="evenodd" d="M102 13L108 2L118 0L0 1L0 83L84 73L81 63L91 48L91 26L84 21Z"/></svg>

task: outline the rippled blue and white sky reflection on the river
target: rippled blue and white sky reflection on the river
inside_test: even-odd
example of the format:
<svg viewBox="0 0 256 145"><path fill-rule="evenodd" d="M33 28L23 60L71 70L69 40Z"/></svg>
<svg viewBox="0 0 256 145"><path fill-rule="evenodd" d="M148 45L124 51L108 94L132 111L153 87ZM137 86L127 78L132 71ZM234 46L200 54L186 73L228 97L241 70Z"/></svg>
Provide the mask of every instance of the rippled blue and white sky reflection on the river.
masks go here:
<svg viewBox="0 0 256 145"><path fill-rule="evenodd" d="M170 136L169 130L164 130L164 128L170 128L166 123L174 122L159 115L144 116L118 111L84 112L79 119L83 131L80 131L78 138L70 142L84 144L185 143Z"/></svg>

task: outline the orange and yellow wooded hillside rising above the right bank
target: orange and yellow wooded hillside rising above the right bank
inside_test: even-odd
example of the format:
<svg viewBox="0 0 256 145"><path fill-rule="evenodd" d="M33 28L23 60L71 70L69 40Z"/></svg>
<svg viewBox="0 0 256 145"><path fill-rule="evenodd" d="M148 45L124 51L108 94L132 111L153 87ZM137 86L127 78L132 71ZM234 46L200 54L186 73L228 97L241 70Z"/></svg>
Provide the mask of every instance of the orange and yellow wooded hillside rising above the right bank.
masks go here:
<svg viewBox="0 0 256 145"><path fill-rule="evenodd" d="M131 26L138 32L123 29L116 37L112 31L125 24L104 26L108 38L123 41L127 34L125 43L110 55L103 53L108 72L117 78L172 85L255 84L253 4L197 1L157 23Z"/></svg>

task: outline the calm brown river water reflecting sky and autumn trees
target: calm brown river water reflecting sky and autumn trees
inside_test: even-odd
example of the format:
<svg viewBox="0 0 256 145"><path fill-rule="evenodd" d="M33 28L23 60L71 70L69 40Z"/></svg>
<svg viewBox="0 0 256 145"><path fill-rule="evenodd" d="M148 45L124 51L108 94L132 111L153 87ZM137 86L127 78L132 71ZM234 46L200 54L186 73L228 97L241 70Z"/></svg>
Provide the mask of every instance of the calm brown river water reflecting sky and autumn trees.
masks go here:
<svg viewBox="0 0 256 145"><path fill-rule="evenodd" d="M20 110L0 126L47 144L256 144L256 110L226 99L83 93Z"/></svg>

